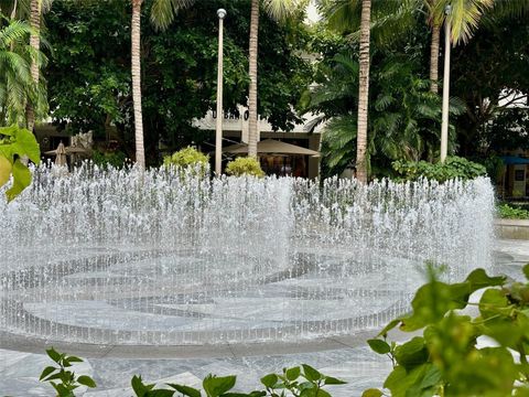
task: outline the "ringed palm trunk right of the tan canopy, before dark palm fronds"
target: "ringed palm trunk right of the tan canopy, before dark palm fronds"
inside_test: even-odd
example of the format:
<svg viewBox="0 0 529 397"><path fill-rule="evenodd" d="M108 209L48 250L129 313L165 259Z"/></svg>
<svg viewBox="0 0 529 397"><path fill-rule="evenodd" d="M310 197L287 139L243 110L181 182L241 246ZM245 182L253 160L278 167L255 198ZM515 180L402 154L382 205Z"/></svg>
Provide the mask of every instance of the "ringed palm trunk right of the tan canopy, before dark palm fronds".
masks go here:
<svg viewBox="0 0 529 397"><path fill-rule="evenodd" d="M367 183L367 108L369 104L369 40L371 0L361 0L356 178Z"/></svg>

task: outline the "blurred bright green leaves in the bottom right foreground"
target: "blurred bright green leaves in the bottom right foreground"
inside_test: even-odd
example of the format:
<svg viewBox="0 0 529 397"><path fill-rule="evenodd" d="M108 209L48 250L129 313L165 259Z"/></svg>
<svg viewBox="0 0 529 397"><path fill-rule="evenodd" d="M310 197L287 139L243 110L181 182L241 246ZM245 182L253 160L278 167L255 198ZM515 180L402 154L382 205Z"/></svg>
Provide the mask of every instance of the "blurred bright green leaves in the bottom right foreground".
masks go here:
<svg viewBox="0 0 529 397"><path fill-rule="evenodd" d="M376 353L387 354L393 364L384 387L393 397L526 396L529 282L489 277L476 269L463 282L445 283L439 279L439 269L429 269L430 281L415 292L412 312L369 341ZM529 265L523 273L529 277ZM476 291L483 293L472 303L469 297ZM478 309L474 318L461 312L468 305ZM386 342L398 325L404 332L422 330L422 335L402 344ZM479 347L479 336L493 339L493 345ZM381 396L381 390L369 389L363 396Z"/></svg>

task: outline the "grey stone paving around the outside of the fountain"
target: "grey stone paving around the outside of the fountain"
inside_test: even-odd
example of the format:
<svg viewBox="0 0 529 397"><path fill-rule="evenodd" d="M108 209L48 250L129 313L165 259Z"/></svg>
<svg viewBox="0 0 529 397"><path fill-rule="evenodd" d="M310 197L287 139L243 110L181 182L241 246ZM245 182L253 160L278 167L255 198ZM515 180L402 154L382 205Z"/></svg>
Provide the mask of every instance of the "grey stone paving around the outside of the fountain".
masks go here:
<svg viewBox="0 0 529 397"><path fill-rule="evenodd" d="M494 272L520 278L521 267L529 262L529 242L498 240L494 248ZM249 390L258 387L259 377L267 373L306 363L324 374L347 380L347 385L330 390L334 397L350 397L360 396L366 388L380 386L390 369L389 360L366 347L365 340L369 335L369 332L364 332L347 337L276 346L201 346L188 350L187 353L176 352L177 346L173 346L173 351L166 347L145 347L143 353L136 351L133 354L128 354L127 346L71 347L76 354L88 357L76 367L76 372L93 376L98 384L97 391L79 389L79 396L132 396L129 384L134 374L142 375L143 379L152 383L182 383L195 387L209 373L234 374L238 378L238 389ZM6 348L8 345L10 350ZM52 388L37 380L42 368L50 364L45 355L39 354L42 351L41 344L20 337L13 341L10 335L0 334L0 347L4 347L0 350L0 396L54 396ZM60 347L67 350L68 345ZM172 356L180 358L171 358Z"/></svg>

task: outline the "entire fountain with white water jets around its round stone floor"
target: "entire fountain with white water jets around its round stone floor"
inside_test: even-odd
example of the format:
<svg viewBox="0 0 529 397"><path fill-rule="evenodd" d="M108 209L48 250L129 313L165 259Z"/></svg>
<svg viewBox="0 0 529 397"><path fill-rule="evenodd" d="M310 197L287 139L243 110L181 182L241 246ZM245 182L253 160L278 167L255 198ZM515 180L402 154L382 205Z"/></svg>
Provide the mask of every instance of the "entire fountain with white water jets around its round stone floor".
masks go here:
<svg viewBox="0 0 529 397"><path fill-rule="evenodd" d="M409 309L424 261L451 279L490 264L493 204L487 179L320 185L41 167L0 203L0 330L199 345L379 328Z"/></svg>

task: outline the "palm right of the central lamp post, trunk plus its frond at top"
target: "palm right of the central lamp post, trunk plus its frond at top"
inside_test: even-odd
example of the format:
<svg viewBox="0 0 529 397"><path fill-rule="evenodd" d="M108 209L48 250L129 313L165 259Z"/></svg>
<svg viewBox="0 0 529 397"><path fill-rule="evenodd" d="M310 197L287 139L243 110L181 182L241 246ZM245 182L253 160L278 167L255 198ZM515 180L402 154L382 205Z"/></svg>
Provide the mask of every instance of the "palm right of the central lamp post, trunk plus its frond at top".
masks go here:
<svg viewBox="0 0 529 397"><path fill-rule="evenodd" d="M262 6L270 17L281 20L292 12L306 7L307 0L262 0ZM259 8L260 0L251 0L250 11L250 45L249 45L249 77L248 90L248 155L257 157L257 58L259 46Z"/></svg>

